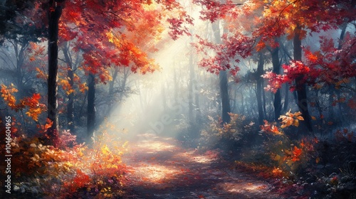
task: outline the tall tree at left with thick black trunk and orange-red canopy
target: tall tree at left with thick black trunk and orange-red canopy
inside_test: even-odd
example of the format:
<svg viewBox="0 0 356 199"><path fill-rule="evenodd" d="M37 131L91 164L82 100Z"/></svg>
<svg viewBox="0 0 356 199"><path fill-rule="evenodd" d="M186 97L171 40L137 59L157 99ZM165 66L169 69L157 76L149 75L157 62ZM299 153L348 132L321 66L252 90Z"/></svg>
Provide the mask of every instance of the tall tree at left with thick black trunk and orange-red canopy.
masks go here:
<svg viewBox="0 0 356 199"><path fill-rule="evenodd" d="M105 82L110 80L105 69L111 63L130 66L134 72L153 71L145 62L148 60L147 55L134 43L125 40L122 34L123 31L134 32L143 27L134 26L135 22L143 21L148 24L145 26L146 33L157 34L162 33L162 29L150 25L162 24L162 19L167 19L171 28L170 35L174 39L184 33L189 34L184 24L192 23L192 18L182 11L182 6L176 1L130 1L128 4L127 1L43 0L34 4L36 9L31 19L36 22L36 26L44 22L48 27L48 119L51 119L53 125L47 131L46 142L54 146L58 145L58 37L61 41L75 38L74 49L83 50L84 64L87 66L85 70L88 74L98 74L100 81ZM166 16L163 12L157 12L157 9L166 11ZM170 11L169 16L167 11ZM113 45L114 38L123 42Z"/></svg>

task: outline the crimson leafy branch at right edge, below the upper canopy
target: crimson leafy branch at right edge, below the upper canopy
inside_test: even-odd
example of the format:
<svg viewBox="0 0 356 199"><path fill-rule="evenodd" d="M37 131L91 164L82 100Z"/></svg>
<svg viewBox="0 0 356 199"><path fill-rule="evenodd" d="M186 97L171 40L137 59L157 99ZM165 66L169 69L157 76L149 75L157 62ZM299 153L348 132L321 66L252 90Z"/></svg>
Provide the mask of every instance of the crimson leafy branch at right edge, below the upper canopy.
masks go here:
<svg viewBox="0 0 356 199"><path fill-rule="evenodd" d="M268 79L266 90L276 92L283 83L293 84L293 80L303 76L303 83L320 88L320 85L335 85L340 87L347 83L348 79L356 75L356 37L346 34L340 50L335 47L333 39L320 37L320 50L312 52L310 48L304 48L305 61L291 61L289 65L283 65L284 75L276 75L267 72L263 75ZM292 85L291 90L295 87ZM296 88L298 89L298 88Z"/></svg>

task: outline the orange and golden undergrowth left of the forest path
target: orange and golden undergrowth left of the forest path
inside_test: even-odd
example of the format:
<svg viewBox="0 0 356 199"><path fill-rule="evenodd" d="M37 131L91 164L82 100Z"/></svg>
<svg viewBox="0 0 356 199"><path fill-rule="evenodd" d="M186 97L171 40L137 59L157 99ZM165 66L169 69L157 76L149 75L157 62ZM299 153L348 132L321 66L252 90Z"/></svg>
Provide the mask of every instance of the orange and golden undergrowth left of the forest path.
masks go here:
<svg viewBox="0 0 356 199"><path fill-rule="evenodd" d="M76 143L69 131L62 131L60 143L58 149L43 145L38 137L18 133L12 138L11 197L120 198L123 195L128 171L121 157L126 143L107 131L96 136L93 147Z"/></svg>

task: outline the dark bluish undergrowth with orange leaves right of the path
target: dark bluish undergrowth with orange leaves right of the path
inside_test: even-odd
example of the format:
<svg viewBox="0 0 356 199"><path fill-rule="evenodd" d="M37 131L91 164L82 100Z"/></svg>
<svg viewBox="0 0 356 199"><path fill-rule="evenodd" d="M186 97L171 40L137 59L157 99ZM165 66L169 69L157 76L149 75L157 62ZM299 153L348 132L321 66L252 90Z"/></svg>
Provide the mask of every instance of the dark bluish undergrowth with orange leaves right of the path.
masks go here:
<svg viewBox="0 0 356 199"><path fill-rule="evenodd" d="M209 127L201 131L201 149L224 149L225 158L242 169L271 181L286 198L355 198L356 139L353 131L335 131L333 139L304 136L296 139L300 112L287 112L281 123L256 128L243 116L230 114L231 122L209 117Z"/></svg>

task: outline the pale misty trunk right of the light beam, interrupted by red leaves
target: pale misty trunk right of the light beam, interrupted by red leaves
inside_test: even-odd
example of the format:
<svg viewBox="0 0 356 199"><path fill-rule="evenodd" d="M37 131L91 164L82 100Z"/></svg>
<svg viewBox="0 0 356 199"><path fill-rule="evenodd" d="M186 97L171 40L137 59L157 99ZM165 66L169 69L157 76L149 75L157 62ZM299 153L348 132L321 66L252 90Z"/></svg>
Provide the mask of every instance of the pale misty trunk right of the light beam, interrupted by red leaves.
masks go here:
<svg viewBox="0 0 356 199"><path fill-rule="evenodd" d="M216 43L221 43L219 21L216 21L215 23L211 23L211 28L214 31L214 37ZM229 112L231 112L231 109L230 109L229 90L227 84L227 74L225 70L220 70L219 72L219 85L220 85L220 97L221 97L221 107L222 107L221 117L223 122L228 123L230 122Z"/></svg>

